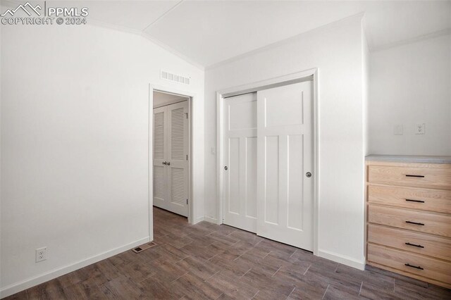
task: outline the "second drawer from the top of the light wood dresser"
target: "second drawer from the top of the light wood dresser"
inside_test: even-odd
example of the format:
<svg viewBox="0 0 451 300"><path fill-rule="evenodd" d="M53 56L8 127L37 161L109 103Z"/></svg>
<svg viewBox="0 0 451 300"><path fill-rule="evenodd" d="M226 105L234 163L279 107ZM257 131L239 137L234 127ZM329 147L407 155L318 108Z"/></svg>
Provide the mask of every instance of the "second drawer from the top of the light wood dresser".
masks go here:
<svg viewBox="0 0 451 300"><path fill-rule="evenodd" d="M451 191L369 185L368 201L373 204L451 213Z"/></svg>

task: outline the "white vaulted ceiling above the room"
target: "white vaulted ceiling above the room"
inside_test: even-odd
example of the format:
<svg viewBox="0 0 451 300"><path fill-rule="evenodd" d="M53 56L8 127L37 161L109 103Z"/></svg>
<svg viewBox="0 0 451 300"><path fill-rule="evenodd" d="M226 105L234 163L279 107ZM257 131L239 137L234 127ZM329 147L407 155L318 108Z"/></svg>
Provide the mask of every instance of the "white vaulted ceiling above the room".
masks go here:
<svg viewBox="0 0 451 300"><path fill-rule="evenodd" d="M357 13L370 51L450 32L451 1L47 1L86 6L89 20L142 32L209 67Z"/></svg>

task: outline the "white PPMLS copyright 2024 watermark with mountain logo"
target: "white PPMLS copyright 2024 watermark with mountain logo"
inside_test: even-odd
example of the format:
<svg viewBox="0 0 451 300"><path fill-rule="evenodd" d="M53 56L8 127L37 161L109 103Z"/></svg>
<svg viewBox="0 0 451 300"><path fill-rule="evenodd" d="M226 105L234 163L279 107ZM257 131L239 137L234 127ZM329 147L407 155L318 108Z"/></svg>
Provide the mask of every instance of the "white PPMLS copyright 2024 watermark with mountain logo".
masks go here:
<svg viewBox="0 0 451 300"><path fill-rule="evenodd" d="M18 16L23 13L27 17ZM16 8L8 8L0 14L2 25L85 25L89 10L87 7L51 7L44 1L44 8L30 2L19 4Z"/></svg>

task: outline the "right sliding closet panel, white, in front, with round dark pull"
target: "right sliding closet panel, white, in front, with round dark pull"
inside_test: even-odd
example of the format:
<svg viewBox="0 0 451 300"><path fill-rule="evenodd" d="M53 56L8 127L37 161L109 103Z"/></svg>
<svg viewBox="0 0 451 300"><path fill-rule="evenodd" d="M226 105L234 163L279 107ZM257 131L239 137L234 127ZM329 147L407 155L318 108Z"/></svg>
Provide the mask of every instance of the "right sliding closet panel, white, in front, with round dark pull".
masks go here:
<svg viewBox="0 0 451 300"><path fill-rule="evenodd" d="M313 251L312 82L257 92L257 235Z"/></svg>

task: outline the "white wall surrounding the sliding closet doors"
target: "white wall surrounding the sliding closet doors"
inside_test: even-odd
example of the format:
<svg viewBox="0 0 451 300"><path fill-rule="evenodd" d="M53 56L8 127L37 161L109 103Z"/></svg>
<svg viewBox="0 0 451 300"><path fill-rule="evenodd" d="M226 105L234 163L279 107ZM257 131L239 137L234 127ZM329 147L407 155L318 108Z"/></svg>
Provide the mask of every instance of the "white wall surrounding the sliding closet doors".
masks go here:
<svg viewBox="0 0 451 300"><path fill-rule="evenodd" d="M218 218L216 91L319 68L319 254L364 264L362 15L205 73L205 213Z"/></svg>

